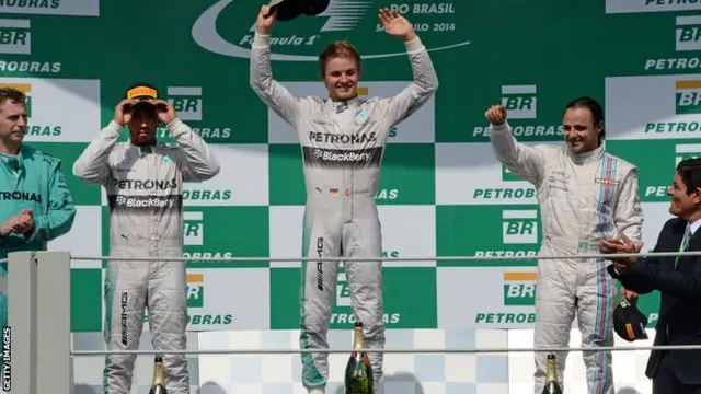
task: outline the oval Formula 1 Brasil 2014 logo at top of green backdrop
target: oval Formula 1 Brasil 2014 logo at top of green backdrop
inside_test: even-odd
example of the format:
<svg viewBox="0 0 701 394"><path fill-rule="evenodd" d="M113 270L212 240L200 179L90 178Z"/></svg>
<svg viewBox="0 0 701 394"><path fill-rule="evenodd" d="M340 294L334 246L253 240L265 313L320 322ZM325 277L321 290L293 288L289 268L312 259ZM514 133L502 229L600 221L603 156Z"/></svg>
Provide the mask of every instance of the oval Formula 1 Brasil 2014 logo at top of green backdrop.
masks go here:
<svg viewBox="0 0 701 394"><path fill-rule="evenodd" d="M195 21L192 35L204 49L237 58L249 58L255 35L255 16L258 5L244 0L219 0L209 7ZM382 34L382 25L377 20L378 8L391 8L400 11L422 36L428 50L446 50L469 45L460 36L464 30L458 28L462 18L457 14L464 7L462 1L394 1L394 3L371 0L331 0L324 12L317 16L300 16L285 24L277 24L271 38L272 60L318 61L319 53L333 39L344 39L350 32L358 37L368 34ZM218 23L219 18L227 23ZM231 23L234 20L234 23ZM237 23L240 22L240 23ZM226 31L219 32L217 26ZM225 27L226 26L226 27ZM233 37L228 40L225 37ZM363 59L406 56L403 47L394 51L366 49Z"/></svg>

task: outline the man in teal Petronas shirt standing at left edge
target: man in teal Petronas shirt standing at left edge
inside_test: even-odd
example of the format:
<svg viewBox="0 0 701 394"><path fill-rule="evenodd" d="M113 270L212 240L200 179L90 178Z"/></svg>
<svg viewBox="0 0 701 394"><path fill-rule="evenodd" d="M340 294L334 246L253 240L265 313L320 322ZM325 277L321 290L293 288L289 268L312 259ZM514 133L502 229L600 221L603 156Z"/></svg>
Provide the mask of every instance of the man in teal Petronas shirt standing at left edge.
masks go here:
<svg viewBox="0 0 701 394"><path fill-rule="evenodd" d="M45 251L73 225L76 207L60 160L22 143L26 96L0 88L0 259L11 252ZM0 325L8 325L8 264L0 264Z"/></svg>

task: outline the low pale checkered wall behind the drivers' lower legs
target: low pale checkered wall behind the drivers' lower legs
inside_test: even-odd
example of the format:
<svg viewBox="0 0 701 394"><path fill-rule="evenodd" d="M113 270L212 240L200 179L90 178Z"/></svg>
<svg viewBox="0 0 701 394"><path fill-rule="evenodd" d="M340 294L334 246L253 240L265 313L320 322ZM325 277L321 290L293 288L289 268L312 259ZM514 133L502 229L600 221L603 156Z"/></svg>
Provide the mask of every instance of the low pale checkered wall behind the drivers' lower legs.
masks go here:
<svg viewBox="0 0 701 394"><path fill-rule="evenodd" d="M651 338L654 329L647 331ZM299 348L297 331L230 331L188 333L188 349L280 349ZM333 348L346 348L350 333L330 331ZM532 347L530 329L390 329L391 348L510 348ZM148 333L142 350L150 350ZM652 339L616 346L651 346ZM570 346L579 347L579 333L573 331ZM78 350L104 349L100 333L73 334ZM613 352L613 381L617 394L651 394L644 375L650 351ZM299 355L202 355L189 356L192 392L197 394L306 394L301 385ZM347 355L329 357L327 394L341 394ZM135 368L133 394L148 392L152 373L151 356L139 356ZM104 357L77 357L73 361L74 394L101 394ZM530 352L509 355L386 355L383 394L532 394L533 359ZM582 352L573 351L565 367L567 394L588 394ZM145 391L146 390L146 391Z"/></svg>

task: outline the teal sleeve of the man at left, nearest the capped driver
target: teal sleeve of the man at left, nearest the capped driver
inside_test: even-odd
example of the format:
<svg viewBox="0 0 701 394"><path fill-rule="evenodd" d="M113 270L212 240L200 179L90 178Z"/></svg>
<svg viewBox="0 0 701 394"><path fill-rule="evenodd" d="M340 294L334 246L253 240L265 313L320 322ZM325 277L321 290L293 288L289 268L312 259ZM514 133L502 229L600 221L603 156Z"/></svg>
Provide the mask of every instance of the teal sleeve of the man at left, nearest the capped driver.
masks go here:
<svg viewBox="0 0 701 394"><path fill-rule="evenodd" d="M34 213L34 227L25 234L28 242L57 239L68 233L76 219L73 197L60 171L61 162L55 159L49 165L47 210L43 215Z"/></svg>

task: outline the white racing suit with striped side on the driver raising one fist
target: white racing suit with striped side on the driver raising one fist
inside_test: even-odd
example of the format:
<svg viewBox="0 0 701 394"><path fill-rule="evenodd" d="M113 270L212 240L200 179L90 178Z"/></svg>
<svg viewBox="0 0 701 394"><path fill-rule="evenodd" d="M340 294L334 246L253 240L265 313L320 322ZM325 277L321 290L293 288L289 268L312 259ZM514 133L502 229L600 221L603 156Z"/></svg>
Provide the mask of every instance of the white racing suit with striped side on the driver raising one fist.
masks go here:
<svg viewBox="0 0 701 394"><path fill-rule="evenodd" d="M508 124L492 126L496 158L536 187L542 221L542 255L599 254L598 240L625 233L640 240L643 212L637 169L604 146L573 154L555 144L516 141ZM543 259L536 282L535 347L568 347L575 316L582 346L613 346L616 285L602 259ZM535 392L545 384L547 354L536 354ZM562 382L566 354L555 354ZM613 394L611 352L584 352L588 392ZM566 389L565 389L566 390Z"/></svg>

